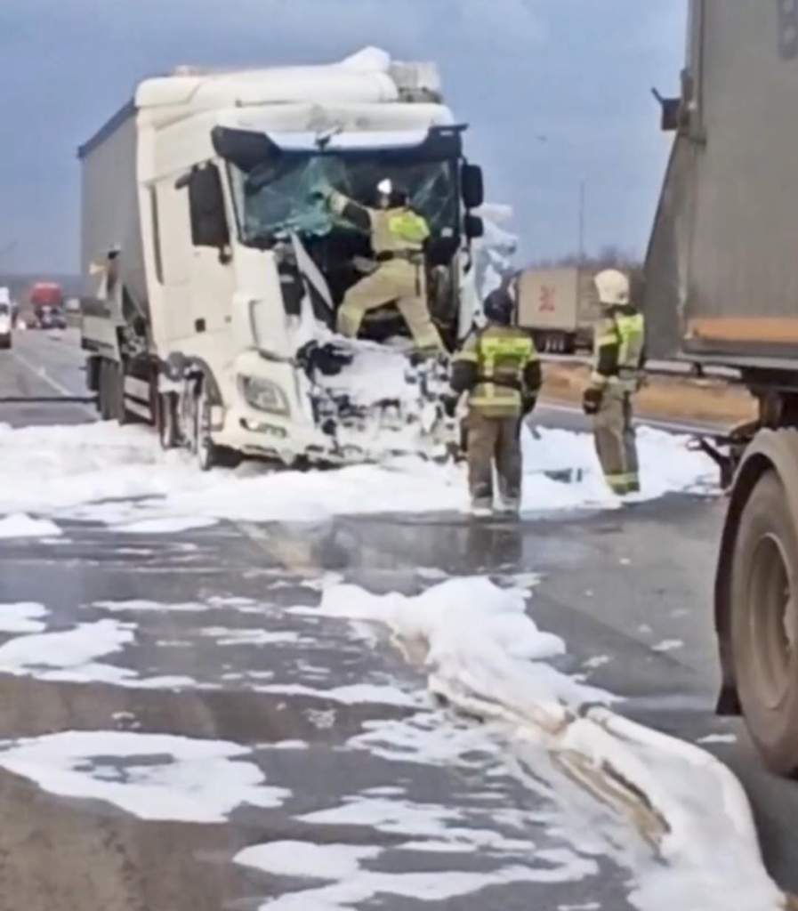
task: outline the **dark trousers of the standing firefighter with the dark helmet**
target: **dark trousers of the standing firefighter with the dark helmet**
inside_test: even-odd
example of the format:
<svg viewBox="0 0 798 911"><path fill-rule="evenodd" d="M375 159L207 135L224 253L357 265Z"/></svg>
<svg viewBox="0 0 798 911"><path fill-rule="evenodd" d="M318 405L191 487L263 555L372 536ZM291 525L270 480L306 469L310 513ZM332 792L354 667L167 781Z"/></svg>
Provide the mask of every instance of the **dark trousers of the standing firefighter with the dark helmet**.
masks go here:
<svg viewBox="0 0 798 911"><path fill-rule="evenodd" d="M475 507L493 506L493 466L499 496L507 506L521 501L521 415L488 417L476 408L468 415L468 486Z"/></svg>

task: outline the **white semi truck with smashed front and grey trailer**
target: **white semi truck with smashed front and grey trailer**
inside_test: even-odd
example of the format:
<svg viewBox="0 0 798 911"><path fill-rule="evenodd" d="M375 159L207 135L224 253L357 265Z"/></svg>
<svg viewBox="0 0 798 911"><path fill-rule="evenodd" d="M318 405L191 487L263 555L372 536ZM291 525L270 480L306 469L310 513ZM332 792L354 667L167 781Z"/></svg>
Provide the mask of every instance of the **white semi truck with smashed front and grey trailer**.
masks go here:
<svg viewBox="0 0 798 911"><path fill-rule="evenodd" d="M141 83L80 149L87 382L107 419L137 415L208 468L442 452L444 358L415 357L390 305L334 333L369 268L362 229L318 190L365 205L390 178L429 222L428 302L455 348L476 307L482 172L433 65L369 49L341 64L181 68Z"/></svg>

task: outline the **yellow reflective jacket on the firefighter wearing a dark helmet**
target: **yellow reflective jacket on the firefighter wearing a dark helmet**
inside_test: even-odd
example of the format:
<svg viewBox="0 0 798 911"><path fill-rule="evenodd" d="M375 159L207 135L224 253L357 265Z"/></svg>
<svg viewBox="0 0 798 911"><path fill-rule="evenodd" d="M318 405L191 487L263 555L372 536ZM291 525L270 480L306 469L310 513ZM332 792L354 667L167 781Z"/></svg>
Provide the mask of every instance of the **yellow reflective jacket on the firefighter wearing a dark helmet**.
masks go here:
<svg viewBox="0 0 798 911"><path fill-rule="evenodd" d="M455 361L476 364L470 407L486 417L516 417L523 411L524 372L537 361L527 333L513 326L488 326L472 336Z"/></svg>

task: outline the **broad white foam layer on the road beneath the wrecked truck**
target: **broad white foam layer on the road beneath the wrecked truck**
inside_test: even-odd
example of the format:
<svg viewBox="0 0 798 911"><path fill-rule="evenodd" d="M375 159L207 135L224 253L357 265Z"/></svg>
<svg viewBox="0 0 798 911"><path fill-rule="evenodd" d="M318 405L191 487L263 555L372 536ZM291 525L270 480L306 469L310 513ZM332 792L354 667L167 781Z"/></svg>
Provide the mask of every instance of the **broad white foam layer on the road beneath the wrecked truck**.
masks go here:
<svg viewBox="0 0 798 911"><path fill-rule="evenodd" d="M616 508L592 438L562 430L525 430L524 509ZM643 492L714 489L715 466L690 452L684 437L639 431ZM413 458L336 471L279 471L248 462L236 471L203 474L186 455L163 453L156 436L137 426L0 425L0 459L14 485L0 491L0 519L14 514L94 520L131 532L171 532L213 519L319 521L353 513L426 513L467 507L465 466ZM555 477L552 477L552 473ZM38 534L52 535L47 525Z"/></svg>

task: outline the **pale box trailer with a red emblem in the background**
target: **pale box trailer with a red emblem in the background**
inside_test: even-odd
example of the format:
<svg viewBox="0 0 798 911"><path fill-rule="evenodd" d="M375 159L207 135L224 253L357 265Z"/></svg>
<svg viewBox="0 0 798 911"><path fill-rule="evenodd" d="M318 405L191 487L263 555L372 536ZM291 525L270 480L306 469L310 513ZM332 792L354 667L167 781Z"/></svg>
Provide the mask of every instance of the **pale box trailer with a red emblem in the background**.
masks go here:
<svg viewBox="0 0 798 911"><path fill-rule="evenodd" d="M592 275L576 267L527 269L517 277L518 324L541 351L573 353L592 347L598 294Z"/></svg>

